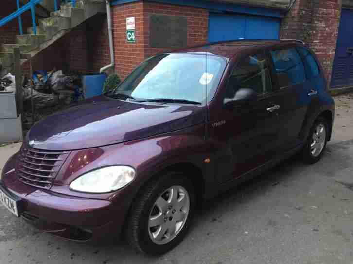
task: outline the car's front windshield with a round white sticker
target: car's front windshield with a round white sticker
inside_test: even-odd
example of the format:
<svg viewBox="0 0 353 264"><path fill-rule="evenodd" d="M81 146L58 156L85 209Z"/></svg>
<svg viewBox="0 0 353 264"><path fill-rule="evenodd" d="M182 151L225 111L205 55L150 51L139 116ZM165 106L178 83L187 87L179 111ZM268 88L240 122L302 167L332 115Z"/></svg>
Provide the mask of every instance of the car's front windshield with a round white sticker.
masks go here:
<svg viewBox="0 0 353 264"><path fill-rule="evenodd" d="M208 98L213 97L225 66L225 59L205 53L157 55L141 63L106 96L141 102L170 99L201 104L206 91Z"/></svg>

